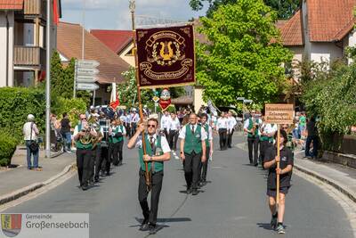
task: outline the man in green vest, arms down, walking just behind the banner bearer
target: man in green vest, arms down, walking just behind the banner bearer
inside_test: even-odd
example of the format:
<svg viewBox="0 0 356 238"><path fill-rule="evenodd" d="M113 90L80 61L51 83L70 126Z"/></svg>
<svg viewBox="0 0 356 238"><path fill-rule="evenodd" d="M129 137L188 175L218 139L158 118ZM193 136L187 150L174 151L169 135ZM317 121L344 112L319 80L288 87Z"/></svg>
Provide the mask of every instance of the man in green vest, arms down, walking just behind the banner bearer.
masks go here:
<svg viewBox="0 0 356 238"><path fill-rule="evenodd" d="M182 127L179 135L187 193L193 195L198 194L200 162L206 162L206 131L197 120L197 114L190 113L190 123Z"/></svg>

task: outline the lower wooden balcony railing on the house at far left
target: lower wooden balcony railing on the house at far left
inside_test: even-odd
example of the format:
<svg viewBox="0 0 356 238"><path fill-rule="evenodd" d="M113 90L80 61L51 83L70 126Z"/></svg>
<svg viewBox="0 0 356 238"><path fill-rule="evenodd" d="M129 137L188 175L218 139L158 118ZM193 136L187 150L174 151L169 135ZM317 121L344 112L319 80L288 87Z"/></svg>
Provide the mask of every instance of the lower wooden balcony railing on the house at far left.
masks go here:
<svg viewBox="0 0 356 238"><path fill-rule="evenodd" d="M36 66L44 68L45 50L38 46L15 46L13 63L15 66Z"/></svg>

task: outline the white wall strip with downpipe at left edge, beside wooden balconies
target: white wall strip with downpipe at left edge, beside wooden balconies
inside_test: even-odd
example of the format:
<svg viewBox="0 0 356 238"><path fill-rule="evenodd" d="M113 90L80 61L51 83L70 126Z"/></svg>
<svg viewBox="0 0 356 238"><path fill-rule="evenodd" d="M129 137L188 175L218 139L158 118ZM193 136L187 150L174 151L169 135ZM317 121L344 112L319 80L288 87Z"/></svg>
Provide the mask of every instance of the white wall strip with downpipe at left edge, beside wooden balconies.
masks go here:
<svg viewBox="0 0 356 238"><path fill-rule="evenodd" d="M5 12L0 12L0 86L12 86L13 84L13 12L8 12L9 29L6 29ZM8 44L6 41L9 40ZM6 47L8 48L8 59L6 59ZM6 78L6 65L8 65Z"/></svg>

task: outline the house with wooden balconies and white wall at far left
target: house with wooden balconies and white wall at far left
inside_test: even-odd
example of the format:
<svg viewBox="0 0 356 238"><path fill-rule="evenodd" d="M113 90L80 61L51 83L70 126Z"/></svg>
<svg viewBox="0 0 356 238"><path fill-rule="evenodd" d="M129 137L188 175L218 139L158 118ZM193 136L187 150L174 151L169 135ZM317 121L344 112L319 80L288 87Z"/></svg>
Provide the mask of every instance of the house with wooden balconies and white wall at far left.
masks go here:
<svg viewBox="0 0 356 238"><path fill-rule="evenodd" d="M61 0L51 1L51 50ZM45 76L45 0L0 0L0 86L35 86Z"/></svg>

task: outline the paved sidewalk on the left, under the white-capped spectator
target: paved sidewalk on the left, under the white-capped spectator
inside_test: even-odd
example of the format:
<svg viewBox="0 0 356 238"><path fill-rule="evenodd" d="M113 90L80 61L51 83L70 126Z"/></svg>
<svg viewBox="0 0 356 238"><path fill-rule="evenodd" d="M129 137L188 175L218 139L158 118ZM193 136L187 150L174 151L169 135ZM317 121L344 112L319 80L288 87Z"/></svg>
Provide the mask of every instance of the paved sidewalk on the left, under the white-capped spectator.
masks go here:
<svg viewBox="0 0 356 238"><path fill-rule="evenodd" d="M18 168L0 170L0 205L33 192L36 189L51 184L56 178L63 176L75 165L75 154L63 153L58 157L44 158L40 151L38 164L42 171L28 170L26 149L18 147L12 156L12 164Z"/></svg>

